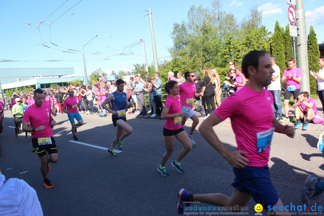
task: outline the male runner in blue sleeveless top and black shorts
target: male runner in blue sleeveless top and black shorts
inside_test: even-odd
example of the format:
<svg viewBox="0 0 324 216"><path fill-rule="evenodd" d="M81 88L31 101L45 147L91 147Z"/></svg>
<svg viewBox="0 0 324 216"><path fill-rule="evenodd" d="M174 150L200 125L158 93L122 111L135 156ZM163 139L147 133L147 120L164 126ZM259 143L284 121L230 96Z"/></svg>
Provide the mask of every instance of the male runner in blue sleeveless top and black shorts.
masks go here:
<svg viewBox="0 0 324 216"><path fill-rule="evenodd" d="M117 90L102 102L102 108L112 113L111 120L114 126L117 126L116 136L112 140L112 144L107 150L113 157L117 157L114 152L116 144L120 150L123 149L123 139L129 136L133 132L133 128L126 123L125 110L133 107L132 103L127 100L124 90L124 81L122 79L116 80ZM110 103L112 108L109 108L107 104Z"/></svg>

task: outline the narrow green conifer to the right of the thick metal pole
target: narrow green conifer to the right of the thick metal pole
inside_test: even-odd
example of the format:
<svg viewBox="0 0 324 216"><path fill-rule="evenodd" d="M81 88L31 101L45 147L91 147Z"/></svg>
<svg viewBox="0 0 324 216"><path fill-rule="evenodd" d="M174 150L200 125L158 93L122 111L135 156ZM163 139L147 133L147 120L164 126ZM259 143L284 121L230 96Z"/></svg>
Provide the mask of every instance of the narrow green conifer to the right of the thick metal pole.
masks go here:
<svg viewBox="0 0 324 216"><path fill-rule="evenodd" d="M318 49L317 37L313 26L310 26L309 34L307 37L307 50L308 50L308 68L310 71L318 71L320 66L318 65L318 58L320 52ZM317 94L317 81L313 77L309 78L310 93Z"/></svg>

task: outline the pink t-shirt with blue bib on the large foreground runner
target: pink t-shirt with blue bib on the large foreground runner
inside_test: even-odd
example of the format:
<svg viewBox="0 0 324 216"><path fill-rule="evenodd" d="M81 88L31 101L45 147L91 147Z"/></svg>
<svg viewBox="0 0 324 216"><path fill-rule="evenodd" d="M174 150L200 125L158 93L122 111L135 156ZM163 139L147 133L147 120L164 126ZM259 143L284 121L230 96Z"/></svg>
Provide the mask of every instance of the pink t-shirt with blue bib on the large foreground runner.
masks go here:
<svg viewBox="0 0 324 216"><path fill-rule="evenodd" d="M268 90L256 92L248 86L243 86L239 92L226 98L220 107L214 110L220 119L231 119L237 150L249 152L244 154L244 157L249 159L248 166L268 164L273 128L272 105L273 96ZM257 133L259 136L268 136L257 139Z"/></svg>

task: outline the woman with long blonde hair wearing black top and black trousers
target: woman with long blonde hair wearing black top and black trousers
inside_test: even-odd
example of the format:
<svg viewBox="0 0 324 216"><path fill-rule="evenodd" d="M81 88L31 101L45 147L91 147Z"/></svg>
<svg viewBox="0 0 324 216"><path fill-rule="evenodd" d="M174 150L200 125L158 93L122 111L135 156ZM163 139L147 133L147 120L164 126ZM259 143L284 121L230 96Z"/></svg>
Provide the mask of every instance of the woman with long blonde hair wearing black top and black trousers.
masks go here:
<svg viewBox="0 0 324 216"><path fill-rule="evenodd" d="M215 81L212 72L209 68L205 68L203 70L203 74L205 75L205 77L203 78L203 97L205 99L205 103L208 110L208 115L204 118L206 119L212 113L212 111L216 109L214 102Z"/></svg>

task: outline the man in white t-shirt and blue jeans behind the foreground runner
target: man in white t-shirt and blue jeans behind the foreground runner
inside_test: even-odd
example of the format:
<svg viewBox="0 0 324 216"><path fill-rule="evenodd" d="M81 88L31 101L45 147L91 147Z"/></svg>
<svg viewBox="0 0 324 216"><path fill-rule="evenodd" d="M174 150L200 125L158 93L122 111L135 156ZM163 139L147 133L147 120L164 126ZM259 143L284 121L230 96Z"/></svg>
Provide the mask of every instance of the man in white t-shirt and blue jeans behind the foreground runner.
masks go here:
<svg viewBox="0 0 324 216"><path fill-rule="evenodd" d="M276 59L273 55L270 55L272 68L274 70L274 73L272 74L272 81L271 84L267 86L267 90L269 90L274 98L273 103L273 111L274 111L274 117L278 120L282 119L282 109L281 109L281 99L280 99L280 92L281 92L281 85L280 85L280 68L276 63L274 62Z"/></svg>

